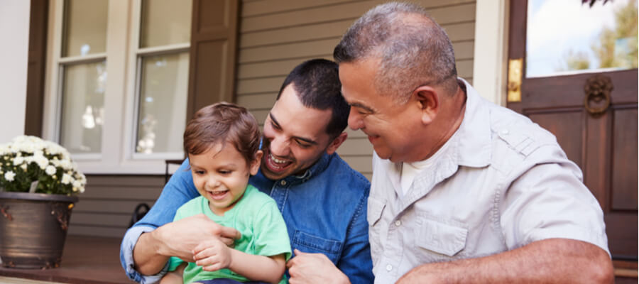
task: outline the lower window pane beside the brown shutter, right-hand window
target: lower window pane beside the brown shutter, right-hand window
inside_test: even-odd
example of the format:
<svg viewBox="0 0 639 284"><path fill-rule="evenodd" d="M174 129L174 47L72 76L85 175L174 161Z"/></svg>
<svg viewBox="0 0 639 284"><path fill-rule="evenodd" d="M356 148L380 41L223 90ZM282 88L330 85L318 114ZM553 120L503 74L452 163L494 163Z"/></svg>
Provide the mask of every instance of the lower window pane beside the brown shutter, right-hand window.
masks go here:
<svg viewBox="0 0 639 284"><path fill-rule="evenodd" d="M189 54L142 58L137 153L182 152Z"/></svg>

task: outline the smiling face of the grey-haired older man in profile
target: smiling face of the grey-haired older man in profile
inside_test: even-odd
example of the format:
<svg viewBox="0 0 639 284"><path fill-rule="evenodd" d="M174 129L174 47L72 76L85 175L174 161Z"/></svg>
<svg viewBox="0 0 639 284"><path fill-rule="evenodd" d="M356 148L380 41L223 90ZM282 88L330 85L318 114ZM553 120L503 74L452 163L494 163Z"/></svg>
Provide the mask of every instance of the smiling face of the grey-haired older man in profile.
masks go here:
<svg viewBox="0 0 639 284"><path fill-rule="evenodd" d="M378 60L367 59L339 64L342 95L351 105L349 127L361 129L380 158L393 162L413 161L411 152L419 147L415 130L421 111L412 99L396 104L392 96L379 94L374 87Z"/></svg>

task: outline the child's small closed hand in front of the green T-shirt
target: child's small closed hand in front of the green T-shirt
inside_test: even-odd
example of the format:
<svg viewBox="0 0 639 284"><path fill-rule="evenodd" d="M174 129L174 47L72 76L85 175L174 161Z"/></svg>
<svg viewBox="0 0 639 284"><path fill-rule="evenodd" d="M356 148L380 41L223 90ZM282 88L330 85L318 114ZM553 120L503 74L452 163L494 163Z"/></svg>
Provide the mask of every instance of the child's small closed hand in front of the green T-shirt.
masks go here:
<svg viewBox="0 0 639 284"><path fill-rule="evenodd" d="M231 249L218 239L210 239L193 249L193 260L204 271L219 271L231 266Z"/></svg>

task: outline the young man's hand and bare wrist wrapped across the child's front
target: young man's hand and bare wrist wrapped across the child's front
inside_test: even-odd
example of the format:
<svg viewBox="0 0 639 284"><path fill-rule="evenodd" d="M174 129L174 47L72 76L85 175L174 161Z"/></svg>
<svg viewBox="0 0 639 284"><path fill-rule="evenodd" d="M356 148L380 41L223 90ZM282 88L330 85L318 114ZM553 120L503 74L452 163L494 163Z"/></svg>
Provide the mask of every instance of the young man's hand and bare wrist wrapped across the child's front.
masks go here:
<svg viewBox="0 0 639 284"><path fill-rule="evenodd" d="M241 234L233 228L220 226L204 214L186 217L142 234L133 248L136 270L143 275L154 275L162 270L170 256L193 261L193 249L210 239L219 239L232 245Z"/></svg>

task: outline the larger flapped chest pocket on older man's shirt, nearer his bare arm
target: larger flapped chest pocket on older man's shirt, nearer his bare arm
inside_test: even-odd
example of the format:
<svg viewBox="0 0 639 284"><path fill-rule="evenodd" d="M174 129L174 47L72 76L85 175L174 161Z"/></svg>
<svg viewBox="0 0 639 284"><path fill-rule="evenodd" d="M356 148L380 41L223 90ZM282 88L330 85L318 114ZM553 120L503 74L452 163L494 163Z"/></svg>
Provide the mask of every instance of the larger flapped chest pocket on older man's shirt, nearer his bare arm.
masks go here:
<svg viewBox="0 0 639 284"><path fill-rule="evenodd" d="M422 249L452 257L466 247L467 234L464 227L422 219L415 243Z"/></svg>

